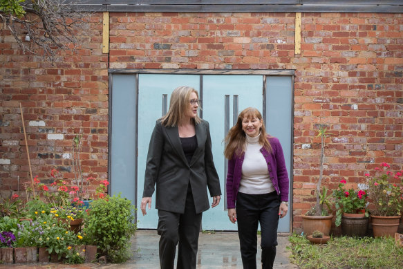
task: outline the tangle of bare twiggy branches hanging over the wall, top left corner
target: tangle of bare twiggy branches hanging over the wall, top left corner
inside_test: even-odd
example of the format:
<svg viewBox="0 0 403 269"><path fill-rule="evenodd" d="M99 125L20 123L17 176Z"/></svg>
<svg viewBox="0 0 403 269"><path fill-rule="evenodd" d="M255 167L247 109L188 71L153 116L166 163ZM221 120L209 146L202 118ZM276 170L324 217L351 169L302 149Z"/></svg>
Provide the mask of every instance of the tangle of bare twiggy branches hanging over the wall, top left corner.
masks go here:
<svg viewBox="0 0 403 269"><path fill-rule="evenodd" d="M74 50L78 33L90 14L80 12L71 0L30 0L9 3L22 10L0 6L0 19L26 53L40 54L55 62L59 50ZM17 7L19 8L19 7Z"/></svg>

